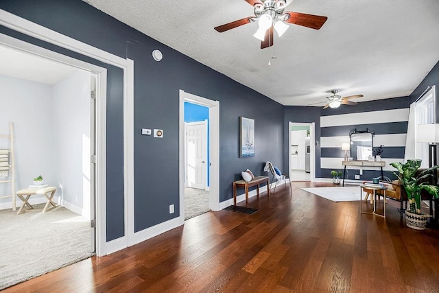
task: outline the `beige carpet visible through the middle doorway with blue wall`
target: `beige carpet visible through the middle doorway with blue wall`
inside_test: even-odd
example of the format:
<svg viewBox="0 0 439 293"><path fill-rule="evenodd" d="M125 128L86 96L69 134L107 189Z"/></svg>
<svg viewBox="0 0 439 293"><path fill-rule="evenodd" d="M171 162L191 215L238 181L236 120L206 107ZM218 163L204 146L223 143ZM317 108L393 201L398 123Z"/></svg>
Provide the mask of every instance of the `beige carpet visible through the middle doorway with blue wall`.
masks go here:
<svg viewBox="0 0 439 293"><path fill-rule="evenodd" d="M185 220L210 211L209 191L196 188L185 188Z"/></svg>

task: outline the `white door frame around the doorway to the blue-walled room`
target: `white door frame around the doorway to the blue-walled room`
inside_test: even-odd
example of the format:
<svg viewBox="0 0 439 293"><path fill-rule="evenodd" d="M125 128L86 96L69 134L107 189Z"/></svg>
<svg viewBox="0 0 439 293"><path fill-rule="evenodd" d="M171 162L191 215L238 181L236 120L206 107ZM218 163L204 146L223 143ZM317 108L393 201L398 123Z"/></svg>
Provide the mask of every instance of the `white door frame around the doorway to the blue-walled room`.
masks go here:
<svg viewBox="0 0 439 293"><path fill-rule="evenodd" d="M185 222L185 102L200 104L209 108L209 158L210 187L209 208L219 211L219 102L180 90L180 222Z"/></svg>

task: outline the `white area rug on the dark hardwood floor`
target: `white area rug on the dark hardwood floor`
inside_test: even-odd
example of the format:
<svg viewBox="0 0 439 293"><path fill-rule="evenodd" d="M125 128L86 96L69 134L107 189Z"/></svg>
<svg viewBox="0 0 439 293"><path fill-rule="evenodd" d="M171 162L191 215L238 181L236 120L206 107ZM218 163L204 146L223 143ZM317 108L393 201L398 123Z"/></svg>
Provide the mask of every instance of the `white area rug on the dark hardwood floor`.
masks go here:
<svg viewBox="0 0 439 293"><path fill-rule="evenodd" d="M353 202L360 198L360 188L358 186L349 187L310 187L300 188L316 196L321 196L333 202Z"/></svg>

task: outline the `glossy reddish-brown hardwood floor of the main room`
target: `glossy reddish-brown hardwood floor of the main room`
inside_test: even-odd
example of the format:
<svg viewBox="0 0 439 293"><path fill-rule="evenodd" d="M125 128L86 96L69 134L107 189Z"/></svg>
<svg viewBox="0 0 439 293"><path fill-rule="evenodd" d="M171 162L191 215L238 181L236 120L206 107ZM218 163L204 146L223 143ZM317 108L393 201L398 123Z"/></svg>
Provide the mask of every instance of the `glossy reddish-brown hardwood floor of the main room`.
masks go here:
<svg viewBox="0 0 439 293"><path fill-rule="evenodd" d="M292 185L5 292L439 292L438 230L407 228L394 200L383 219Z"/></svg>

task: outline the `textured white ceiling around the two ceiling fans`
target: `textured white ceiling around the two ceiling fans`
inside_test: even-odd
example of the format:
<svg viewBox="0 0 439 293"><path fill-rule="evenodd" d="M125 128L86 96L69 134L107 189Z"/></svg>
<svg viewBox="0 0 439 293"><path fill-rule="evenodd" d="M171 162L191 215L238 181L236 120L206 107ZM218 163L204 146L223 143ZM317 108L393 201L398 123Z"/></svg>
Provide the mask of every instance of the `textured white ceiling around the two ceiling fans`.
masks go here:
<svg viewBox="0 0 439 293"><path fill-rule="evenodd" d="M332 89L363 94L356 102L410 95L439 60L438 0L290 0L287 11L328 20L291 25L267 49L257 23L213 30L252 16L244 0L85 1L283 105L324 102Z"/></svg>

